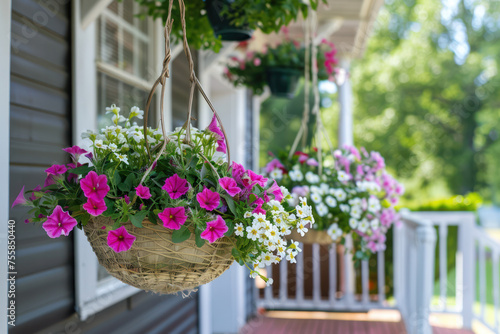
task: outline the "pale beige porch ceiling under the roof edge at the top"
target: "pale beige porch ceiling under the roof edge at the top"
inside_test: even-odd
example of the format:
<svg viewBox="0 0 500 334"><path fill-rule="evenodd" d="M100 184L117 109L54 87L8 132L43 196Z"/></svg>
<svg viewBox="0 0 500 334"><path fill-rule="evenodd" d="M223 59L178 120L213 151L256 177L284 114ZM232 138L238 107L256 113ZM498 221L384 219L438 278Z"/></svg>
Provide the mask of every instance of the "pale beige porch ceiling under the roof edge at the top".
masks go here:
<svg viewBox="0 0 500 334"><path fill-rule="evenodd" d="M341 57L361 57L382 4L383 0L328 0L327 4L321 3L317 11L317 40L326 38L335 43ZM304 38L302 18L289 28L291 38ZM264 45L273 45L282 39L280 34L265 35L256 31L249 47L261 50Z"/></svg>

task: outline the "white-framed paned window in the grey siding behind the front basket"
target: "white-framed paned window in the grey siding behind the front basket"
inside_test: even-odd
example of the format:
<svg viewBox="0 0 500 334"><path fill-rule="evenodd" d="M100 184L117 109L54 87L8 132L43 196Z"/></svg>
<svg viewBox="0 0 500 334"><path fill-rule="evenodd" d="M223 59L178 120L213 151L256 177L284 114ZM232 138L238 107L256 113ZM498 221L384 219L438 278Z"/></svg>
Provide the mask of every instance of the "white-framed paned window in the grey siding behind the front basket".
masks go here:
<svg viewBox="0 0 500 334"><path fill-rule="evenodd" d="M111 124L107 106L114 103L125 115L133 106L145 108L163 53L161 23L136 17L140 8L134 0L113 1L85 28L80 20L83 6L76 0L73 7L73 142L80 145L80 133ZM150 107L150 125L157 118L158 99L155 96ZM82 320L140 291L98 264L82 231L75 234L75 277L76 308Z"/></svg>

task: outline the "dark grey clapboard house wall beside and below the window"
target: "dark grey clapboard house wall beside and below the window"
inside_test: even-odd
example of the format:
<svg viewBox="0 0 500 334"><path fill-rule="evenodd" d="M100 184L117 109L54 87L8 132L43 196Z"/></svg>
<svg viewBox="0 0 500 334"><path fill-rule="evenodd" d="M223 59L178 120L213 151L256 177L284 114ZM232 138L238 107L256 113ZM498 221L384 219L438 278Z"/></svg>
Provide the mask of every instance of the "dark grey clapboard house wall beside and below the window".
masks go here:
<svg viewBox="0 0 500 334"><path fill-rule="evenodd" d="M12 2L11 201L23 185L43 183L50 165L67 162L61 148L72 135L70 5ZM187 106L187 100L180 102ZM18 273L17 321L9 333L198 332L196 293L182 298L141 292L80 322L72 235L50 239L40 226L24 223L25 208L12 209L9 217L16 221Z"/></svg>

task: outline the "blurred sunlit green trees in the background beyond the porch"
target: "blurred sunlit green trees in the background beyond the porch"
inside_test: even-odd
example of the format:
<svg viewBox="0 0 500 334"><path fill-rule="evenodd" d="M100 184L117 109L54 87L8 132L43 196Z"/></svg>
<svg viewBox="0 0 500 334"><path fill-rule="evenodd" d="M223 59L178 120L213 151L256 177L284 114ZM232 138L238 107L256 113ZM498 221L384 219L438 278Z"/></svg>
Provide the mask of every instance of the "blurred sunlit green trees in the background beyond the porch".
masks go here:
<svg viewBox="0 0 500 334"><path fill-rule="evenodd" d="M498 204L499 62L500 1L386 0L351 65L354 142L385 157L407 188L402 204L470 192ZM322 116L336 145L331 86L321 87ZM301 89L293 100L263 103L261 165L292 143L303 98Z"/></svg>

